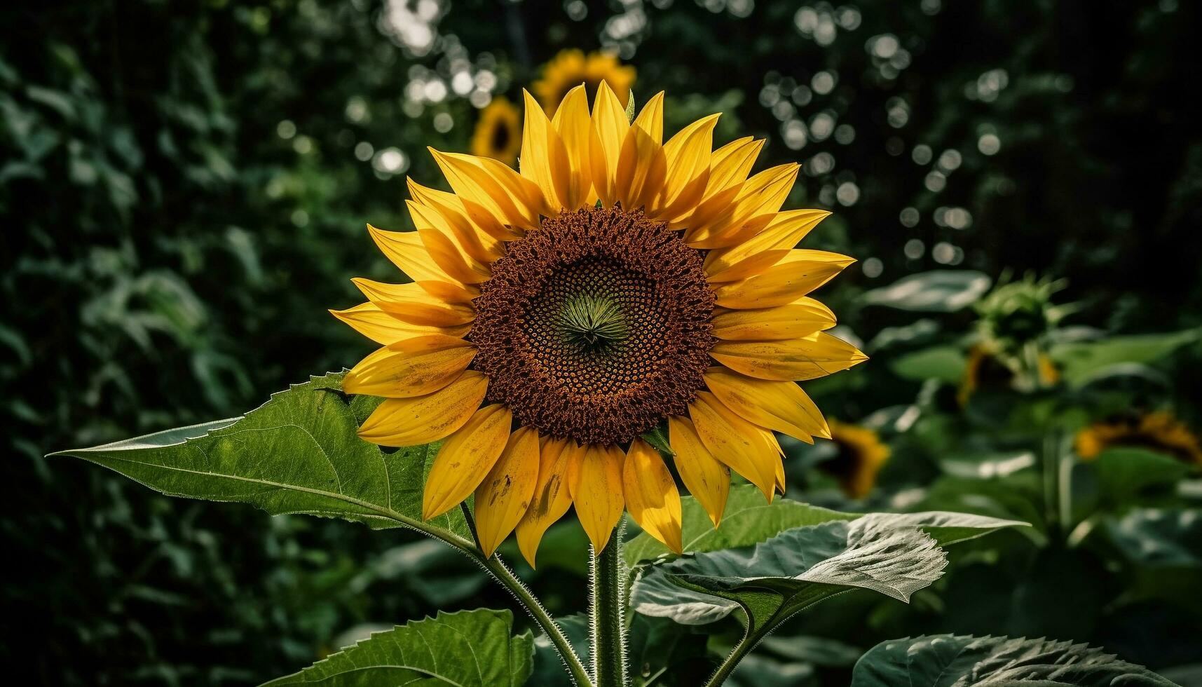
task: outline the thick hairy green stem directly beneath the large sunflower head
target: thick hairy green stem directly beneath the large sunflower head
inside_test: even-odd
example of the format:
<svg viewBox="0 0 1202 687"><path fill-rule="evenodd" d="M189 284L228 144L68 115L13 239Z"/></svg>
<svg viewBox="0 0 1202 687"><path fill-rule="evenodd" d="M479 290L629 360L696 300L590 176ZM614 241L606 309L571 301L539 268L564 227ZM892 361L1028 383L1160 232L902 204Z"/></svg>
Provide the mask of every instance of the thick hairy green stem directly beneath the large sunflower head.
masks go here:
<svg viewBox="0 0 1202 687"><path fill-rule="evenodd" d="M619 525L609 544L589 559L589 642L596 687L626 687L626 599Z"/></svg>

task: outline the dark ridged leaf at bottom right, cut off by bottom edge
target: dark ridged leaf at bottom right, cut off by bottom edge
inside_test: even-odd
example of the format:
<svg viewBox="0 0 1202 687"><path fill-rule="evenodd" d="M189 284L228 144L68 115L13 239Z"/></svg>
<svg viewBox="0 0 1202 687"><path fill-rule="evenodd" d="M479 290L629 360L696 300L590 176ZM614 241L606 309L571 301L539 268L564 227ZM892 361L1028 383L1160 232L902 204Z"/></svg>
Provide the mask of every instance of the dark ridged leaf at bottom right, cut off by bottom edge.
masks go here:
<svg viewBox="0 0 1202 687"><path fill-rule="evenodd" d="M851 687L1171 687L1155 673L1084 644L954 636L885 641L856 663Z"/></svg>

